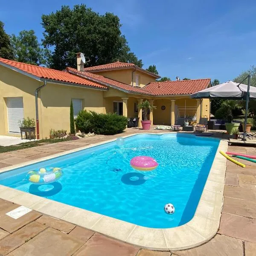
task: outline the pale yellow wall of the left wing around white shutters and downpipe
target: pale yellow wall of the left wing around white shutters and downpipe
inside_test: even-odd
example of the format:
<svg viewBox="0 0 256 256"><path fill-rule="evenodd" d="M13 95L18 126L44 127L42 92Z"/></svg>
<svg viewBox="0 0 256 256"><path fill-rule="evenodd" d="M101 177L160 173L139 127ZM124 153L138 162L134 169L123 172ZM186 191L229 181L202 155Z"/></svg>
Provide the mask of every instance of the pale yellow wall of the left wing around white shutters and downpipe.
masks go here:
<svg viewBox="0 0 256 256"><path fill-rule="evenodd" d="M35 117L35 89L43 82L32 79L9 68L0 66L0 134L8 133L7 97L23 97L24 117ZM103 91L47 83L38 93L40 138L49 137L49 130L64 129L70 132L70 101L82 99L86 110L105 113ZM20 136L16 134L16 136Z"/></svg>

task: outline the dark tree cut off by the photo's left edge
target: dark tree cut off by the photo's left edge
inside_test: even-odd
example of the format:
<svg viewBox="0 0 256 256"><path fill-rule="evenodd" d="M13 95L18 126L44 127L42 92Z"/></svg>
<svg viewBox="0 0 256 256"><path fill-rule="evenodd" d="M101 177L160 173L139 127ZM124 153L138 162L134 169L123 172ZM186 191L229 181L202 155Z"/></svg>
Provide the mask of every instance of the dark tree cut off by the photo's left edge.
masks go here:
<svg viewBox="0 0 256 256"><path fill-rule="evenodd" d="M4 23L0 21L0 57L9 60L14 59L13 49L9 35L4 30Z"/></svg>

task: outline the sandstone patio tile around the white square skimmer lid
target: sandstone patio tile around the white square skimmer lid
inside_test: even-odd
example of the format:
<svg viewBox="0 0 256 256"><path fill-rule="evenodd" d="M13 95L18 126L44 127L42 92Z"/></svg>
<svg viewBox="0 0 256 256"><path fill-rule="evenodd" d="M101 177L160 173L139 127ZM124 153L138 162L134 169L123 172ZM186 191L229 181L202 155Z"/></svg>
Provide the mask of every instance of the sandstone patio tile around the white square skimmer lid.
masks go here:
<svg viewBox="0 0 256 256"><path fill-rule="evenodd" d="M17 207L14 207L12 209L16 208ZM6 209L5 213L11 211L12 209ZM20 229L21 227L25 226L26 224L34 221L35 219L41 216L39 212L31 211L15 220L14 218L9 217L5 213L2 213L0 215L0 228L8 231L9 233L15 232L16 230Z"/></svg>

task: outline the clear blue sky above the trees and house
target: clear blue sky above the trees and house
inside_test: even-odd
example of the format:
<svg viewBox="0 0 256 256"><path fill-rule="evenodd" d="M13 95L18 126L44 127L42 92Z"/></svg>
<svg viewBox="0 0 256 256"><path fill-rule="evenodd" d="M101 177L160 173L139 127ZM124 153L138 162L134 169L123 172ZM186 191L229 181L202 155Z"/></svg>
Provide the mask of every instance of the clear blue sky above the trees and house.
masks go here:
<svg viewBox="0 0 256 256"><path fill-rule="evenodd" d="M0 20L8 34L34 29L42 38L41 15L61 5L85 3L113 12L131 51L144 68L161 76L232 80L256 65L255 0L22 0L1 1Z"/></svg>

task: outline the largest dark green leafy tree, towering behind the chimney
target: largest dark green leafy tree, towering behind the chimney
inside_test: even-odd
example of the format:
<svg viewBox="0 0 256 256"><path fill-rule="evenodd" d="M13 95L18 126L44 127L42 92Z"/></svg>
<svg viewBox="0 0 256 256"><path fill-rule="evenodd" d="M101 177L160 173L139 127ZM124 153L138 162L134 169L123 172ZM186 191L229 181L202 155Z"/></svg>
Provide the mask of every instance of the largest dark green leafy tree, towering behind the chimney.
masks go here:
<svg viewBox="0 0 256 256"><path fill-rule="evenodd" d="M73 9L62 6L55 13L42 15L42 25L44 47L54 48L49 67L59 70L76 67L76 52L84 53L87 67L117 60L142 67L142 61L130 52L121 34L119 17L112 13L99 15L84 4Z"/></svg>

